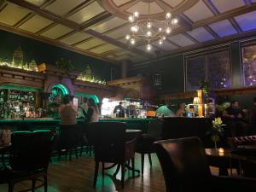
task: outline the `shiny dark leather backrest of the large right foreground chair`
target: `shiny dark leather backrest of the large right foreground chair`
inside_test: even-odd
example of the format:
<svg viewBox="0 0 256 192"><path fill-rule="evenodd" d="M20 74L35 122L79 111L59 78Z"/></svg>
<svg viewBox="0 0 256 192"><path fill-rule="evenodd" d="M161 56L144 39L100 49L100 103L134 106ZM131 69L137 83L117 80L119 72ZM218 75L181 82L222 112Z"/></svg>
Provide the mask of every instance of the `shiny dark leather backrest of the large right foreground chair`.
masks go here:
<svg viewBox="0 0 256 192"><path fill-rule="evenodd" d="M200 138L170 139L156 142L154 145L164 172L167 192L205 189L211 172Z"/></svg>

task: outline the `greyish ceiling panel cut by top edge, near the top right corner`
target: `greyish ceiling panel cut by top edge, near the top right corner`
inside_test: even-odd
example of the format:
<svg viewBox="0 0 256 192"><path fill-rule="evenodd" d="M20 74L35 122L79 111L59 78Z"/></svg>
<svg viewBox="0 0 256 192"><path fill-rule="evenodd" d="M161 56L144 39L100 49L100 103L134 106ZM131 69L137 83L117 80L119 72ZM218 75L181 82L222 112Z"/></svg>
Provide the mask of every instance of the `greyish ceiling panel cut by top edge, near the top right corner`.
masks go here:
<svg viewBox="0 0 256 192"><path fill-rule="evenodd" d="M212 3L215 5L220 13L224 13L226 11L236 9L245 5L243 0L212 0Z"/></svg>

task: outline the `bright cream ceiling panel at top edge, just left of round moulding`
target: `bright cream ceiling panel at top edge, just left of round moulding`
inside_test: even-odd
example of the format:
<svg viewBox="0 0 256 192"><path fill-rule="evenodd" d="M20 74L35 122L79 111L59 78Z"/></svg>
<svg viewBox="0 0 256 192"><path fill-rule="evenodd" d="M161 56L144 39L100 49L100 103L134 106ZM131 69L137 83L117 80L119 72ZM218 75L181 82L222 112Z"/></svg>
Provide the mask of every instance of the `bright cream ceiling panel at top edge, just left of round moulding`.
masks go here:
<svg viewBox="0 0 256 192"><path fill-rule="evenodd" d="M79 10L79 12L71 15L68 19L77 23L83 23L102 12L104 12L104 9L102 9L102 7L95 1L94 3L90 3L90 5L86 6L84 9Z"/></svg>

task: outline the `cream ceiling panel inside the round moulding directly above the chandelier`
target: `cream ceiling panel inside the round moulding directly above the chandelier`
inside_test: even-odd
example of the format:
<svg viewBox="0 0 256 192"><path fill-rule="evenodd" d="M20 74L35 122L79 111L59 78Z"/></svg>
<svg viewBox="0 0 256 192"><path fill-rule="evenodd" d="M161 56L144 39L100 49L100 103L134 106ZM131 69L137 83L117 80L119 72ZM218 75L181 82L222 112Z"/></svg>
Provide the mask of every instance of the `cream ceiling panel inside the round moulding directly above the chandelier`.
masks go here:
<svg viewBox="0 0 256 192"><path fill-rule="evenodd" d="M150 15L164 12L164 10L161 9L160 6L155 2L150 3L149 6L150 6ZM127 11L130 13L134 13L138 11L141 15L148 15L148 3L139 2L133 5L130 9L127 9Z"/></svg>

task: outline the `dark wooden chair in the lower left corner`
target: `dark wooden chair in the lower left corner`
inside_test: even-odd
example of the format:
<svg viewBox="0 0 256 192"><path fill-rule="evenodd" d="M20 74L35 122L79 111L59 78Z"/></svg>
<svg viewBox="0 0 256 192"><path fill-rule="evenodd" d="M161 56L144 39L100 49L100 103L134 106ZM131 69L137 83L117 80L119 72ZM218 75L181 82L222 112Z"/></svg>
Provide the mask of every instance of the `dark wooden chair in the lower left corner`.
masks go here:
<svg viewBox="0 0 256 192"><path fill-rule="evenodd" d="M10 166L0 171L0 183L8 183L9 192L13 192L15 183L32 180L34 192L38 177L44 177L44 192L47 192L47 170L54 143L55 132L15 132L10 148Z"/></svg>

